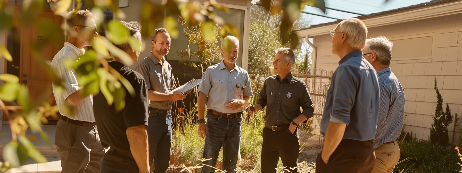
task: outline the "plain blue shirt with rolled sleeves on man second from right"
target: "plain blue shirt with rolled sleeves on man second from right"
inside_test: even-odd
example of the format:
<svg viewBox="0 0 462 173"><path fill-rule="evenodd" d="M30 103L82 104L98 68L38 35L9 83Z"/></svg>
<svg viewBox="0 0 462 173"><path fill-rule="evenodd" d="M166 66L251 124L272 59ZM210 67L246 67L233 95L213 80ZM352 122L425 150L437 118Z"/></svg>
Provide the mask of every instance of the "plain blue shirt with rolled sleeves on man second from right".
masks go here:
<svg viewBox="0 0 462 173"><path fill-rule="evenodd" d="M375 138L380 95L374 68L362 51L345 55L334 72L327 90L321 119L321 134L326 136L330 122L346 124L343 139L368 141Z"/></svg>

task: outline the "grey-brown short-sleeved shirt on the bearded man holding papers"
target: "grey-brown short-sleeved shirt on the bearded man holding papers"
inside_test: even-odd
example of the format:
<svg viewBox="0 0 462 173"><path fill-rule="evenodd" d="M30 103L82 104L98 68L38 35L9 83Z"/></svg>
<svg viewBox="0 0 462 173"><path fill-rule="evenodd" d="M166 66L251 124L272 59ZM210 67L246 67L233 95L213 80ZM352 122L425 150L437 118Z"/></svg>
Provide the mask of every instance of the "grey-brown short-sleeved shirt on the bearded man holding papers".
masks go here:
<svg viewBox="0 0 462 173"><path fill-rule="evenodd" d="M143 76L149 90L168 94L171 89L176 88L173 80L172 67L164 57L159 61L152 52L148 57L138 62L135 71ZM151 101L149 107L170 110L172 104L173 101Z"/></svg>

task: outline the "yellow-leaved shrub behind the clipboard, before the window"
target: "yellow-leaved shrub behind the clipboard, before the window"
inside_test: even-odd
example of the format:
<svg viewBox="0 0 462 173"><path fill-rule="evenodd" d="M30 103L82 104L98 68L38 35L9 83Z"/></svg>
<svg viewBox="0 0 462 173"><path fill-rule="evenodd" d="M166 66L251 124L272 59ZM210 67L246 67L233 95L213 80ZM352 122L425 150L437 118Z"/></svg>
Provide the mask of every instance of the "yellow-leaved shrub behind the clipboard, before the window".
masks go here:
<svg viewBox="0 0 462 173"><path fill-rule="evenodd" d="M178 23L184 25L185 20L183 18L178 18ZM212 27L212 31L209 31L209 27ZM195 26L189 26L183 29L183 34L188 39L188 45L195 43L197 45L197 51L191 51L188 46L186 50L177 52L181 57L180 63L197 68L199 71L198 73L202 75L207 67L212 66L214 60L221 59L222 57L220 48L217 46L221 29L219 24L202 24L201 22ZM207 38L206 35L212 38ZM200 61L193 61L192 58L195 56Z"/></svg>

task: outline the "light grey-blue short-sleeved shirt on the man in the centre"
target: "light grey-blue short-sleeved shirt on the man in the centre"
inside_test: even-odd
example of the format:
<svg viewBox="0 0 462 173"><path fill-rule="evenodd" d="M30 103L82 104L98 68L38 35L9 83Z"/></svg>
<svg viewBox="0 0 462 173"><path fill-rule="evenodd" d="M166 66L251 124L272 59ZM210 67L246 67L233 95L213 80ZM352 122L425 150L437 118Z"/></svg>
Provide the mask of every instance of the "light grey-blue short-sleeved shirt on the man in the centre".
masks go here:
<svg viewBox="0 0 462 173"><path fill-rule="evenodd" d="M208 96L207 108L220 113L242 112L243 107L231 111L225 105L230 103L228 100L241 99L241 93L243 97L253 95L249 73L237 65L230 71L223 60L219 64L209 66L202 79L205 80L199 84L198 90ZM241 87L236 88L236 84L241 84ZM242 86L245 86L245 89L242 89Z"/></svg>

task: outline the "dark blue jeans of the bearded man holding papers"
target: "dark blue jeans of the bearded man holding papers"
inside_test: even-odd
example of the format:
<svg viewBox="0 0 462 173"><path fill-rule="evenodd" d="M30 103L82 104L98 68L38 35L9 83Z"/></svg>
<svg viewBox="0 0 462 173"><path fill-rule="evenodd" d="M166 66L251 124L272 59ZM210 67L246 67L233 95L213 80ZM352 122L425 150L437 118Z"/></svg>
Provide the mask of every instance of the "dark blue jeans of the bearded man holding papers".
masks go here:
<svg viewBox="0 0 462 173"><path fill-rule="evenodd" d="M153 173L165 173L170 165L172 144L172 116L170 113L151 111L146 127L149 142L149 163L154 163Z"/></svg>

